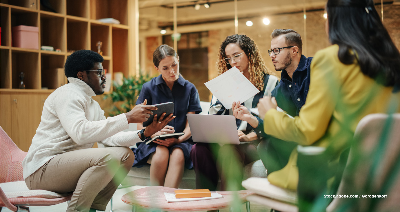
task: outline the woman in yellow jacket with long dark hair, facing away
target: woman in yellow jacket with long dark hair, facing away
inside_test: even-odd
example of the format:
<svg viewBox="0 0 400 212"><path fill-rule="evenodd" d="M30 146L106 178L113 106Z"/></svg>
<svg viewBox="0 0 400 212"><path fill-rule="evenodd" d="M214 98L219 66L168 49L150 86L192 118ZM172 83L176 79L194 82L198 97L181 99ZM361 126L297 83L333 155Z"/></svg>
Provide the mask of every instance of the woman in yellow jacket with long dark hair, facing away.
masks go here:
<svg viewBox="0 0 400 212"><path fill-rule="evenodd" d="M326 30L332 46L311 63L310 90L299 116L276 110L276 101L260 99L266 134L303 146L348 147L358 122L371 113L400 111L400 54L374 8L373 0L328 0ZM236 116L248 111L234 107ZM296 190L297 152L268 175L271 184Z"/></svg>

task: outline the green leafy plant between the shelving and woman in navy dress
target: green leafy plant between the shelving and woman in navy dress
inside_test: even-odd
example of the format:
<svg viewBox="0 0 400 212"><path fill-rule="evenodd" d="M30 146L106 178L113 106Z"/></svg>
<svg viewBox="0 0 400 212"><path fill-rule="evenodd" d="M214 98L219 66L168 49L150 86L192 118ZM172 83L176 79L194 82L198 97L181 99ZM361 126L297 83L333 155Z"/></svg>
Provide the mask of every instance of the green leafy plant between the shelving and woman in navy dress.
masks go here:
<svg viewBox="0 0 400 212"><path fill-rule="evenodd" d="M114 73L115 74L115 73ZM115 77L115 75L114 75ZM140 90L145 82L150 81L154 76L140 75L138 78L130 76L122 80L119 85L113 81L113 92L106 94L104 99L111 98L114 102L113 108L110 110L110 116L116 116L122 113L129 112L136 105Z"/></svg>

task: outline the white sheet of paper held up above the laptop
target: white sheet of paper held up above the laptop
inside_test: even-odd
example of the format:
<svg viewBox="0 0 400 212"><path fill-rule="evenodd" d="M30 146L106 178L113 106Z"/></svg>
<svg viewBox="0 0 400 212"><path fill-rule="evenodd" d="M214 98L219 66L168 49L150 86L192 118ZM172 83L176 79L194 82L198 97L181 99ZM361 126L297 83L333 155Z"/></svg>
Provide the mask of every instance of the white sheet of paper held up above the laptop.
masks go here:
<svg viewBox="0 0 400 212"><path fill-rule="evenodd" d="M228 110L260 92L235 66L204 84Z"/></svg>

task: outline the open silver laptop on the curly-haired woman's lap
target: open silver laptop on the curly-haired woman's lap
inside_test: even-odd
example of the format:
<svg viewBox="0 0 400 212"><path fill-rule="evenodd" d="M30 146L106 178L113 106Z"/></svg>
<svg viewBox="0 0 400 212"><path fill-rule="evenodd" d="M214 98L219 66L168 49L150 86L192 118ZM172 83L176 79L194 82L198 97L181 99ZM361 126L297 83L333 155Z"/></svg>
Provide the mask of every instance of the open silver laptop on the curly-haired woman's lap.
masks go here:
<svg viewBox="0 0 400 212"><path fill-rule="evenodd" d="M194 142L240 144L235 116L187 114Z"/></svg>

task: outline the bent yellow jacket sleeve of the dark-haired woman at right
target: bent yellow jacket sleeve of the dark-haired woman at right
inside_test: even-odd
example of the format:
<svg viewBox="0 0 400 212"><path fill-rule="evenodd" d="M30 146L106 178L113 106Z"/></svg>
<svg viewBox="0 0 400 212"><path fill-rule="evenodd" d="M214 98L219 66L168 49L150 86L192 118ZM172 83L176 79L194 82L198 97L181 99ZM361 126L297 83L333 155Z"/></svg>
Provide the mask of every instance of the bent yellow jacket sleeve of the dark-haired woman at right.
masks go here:
<svg viewBox="0 0 400 212"><path fill-rule="evenodd" d="M294 119L283 112L269 110L264 116L264 130L276 138L312 145L325 133L334 113L340 84L337 50L317 52L311 62L310 88L306 103Z"/></svg>

